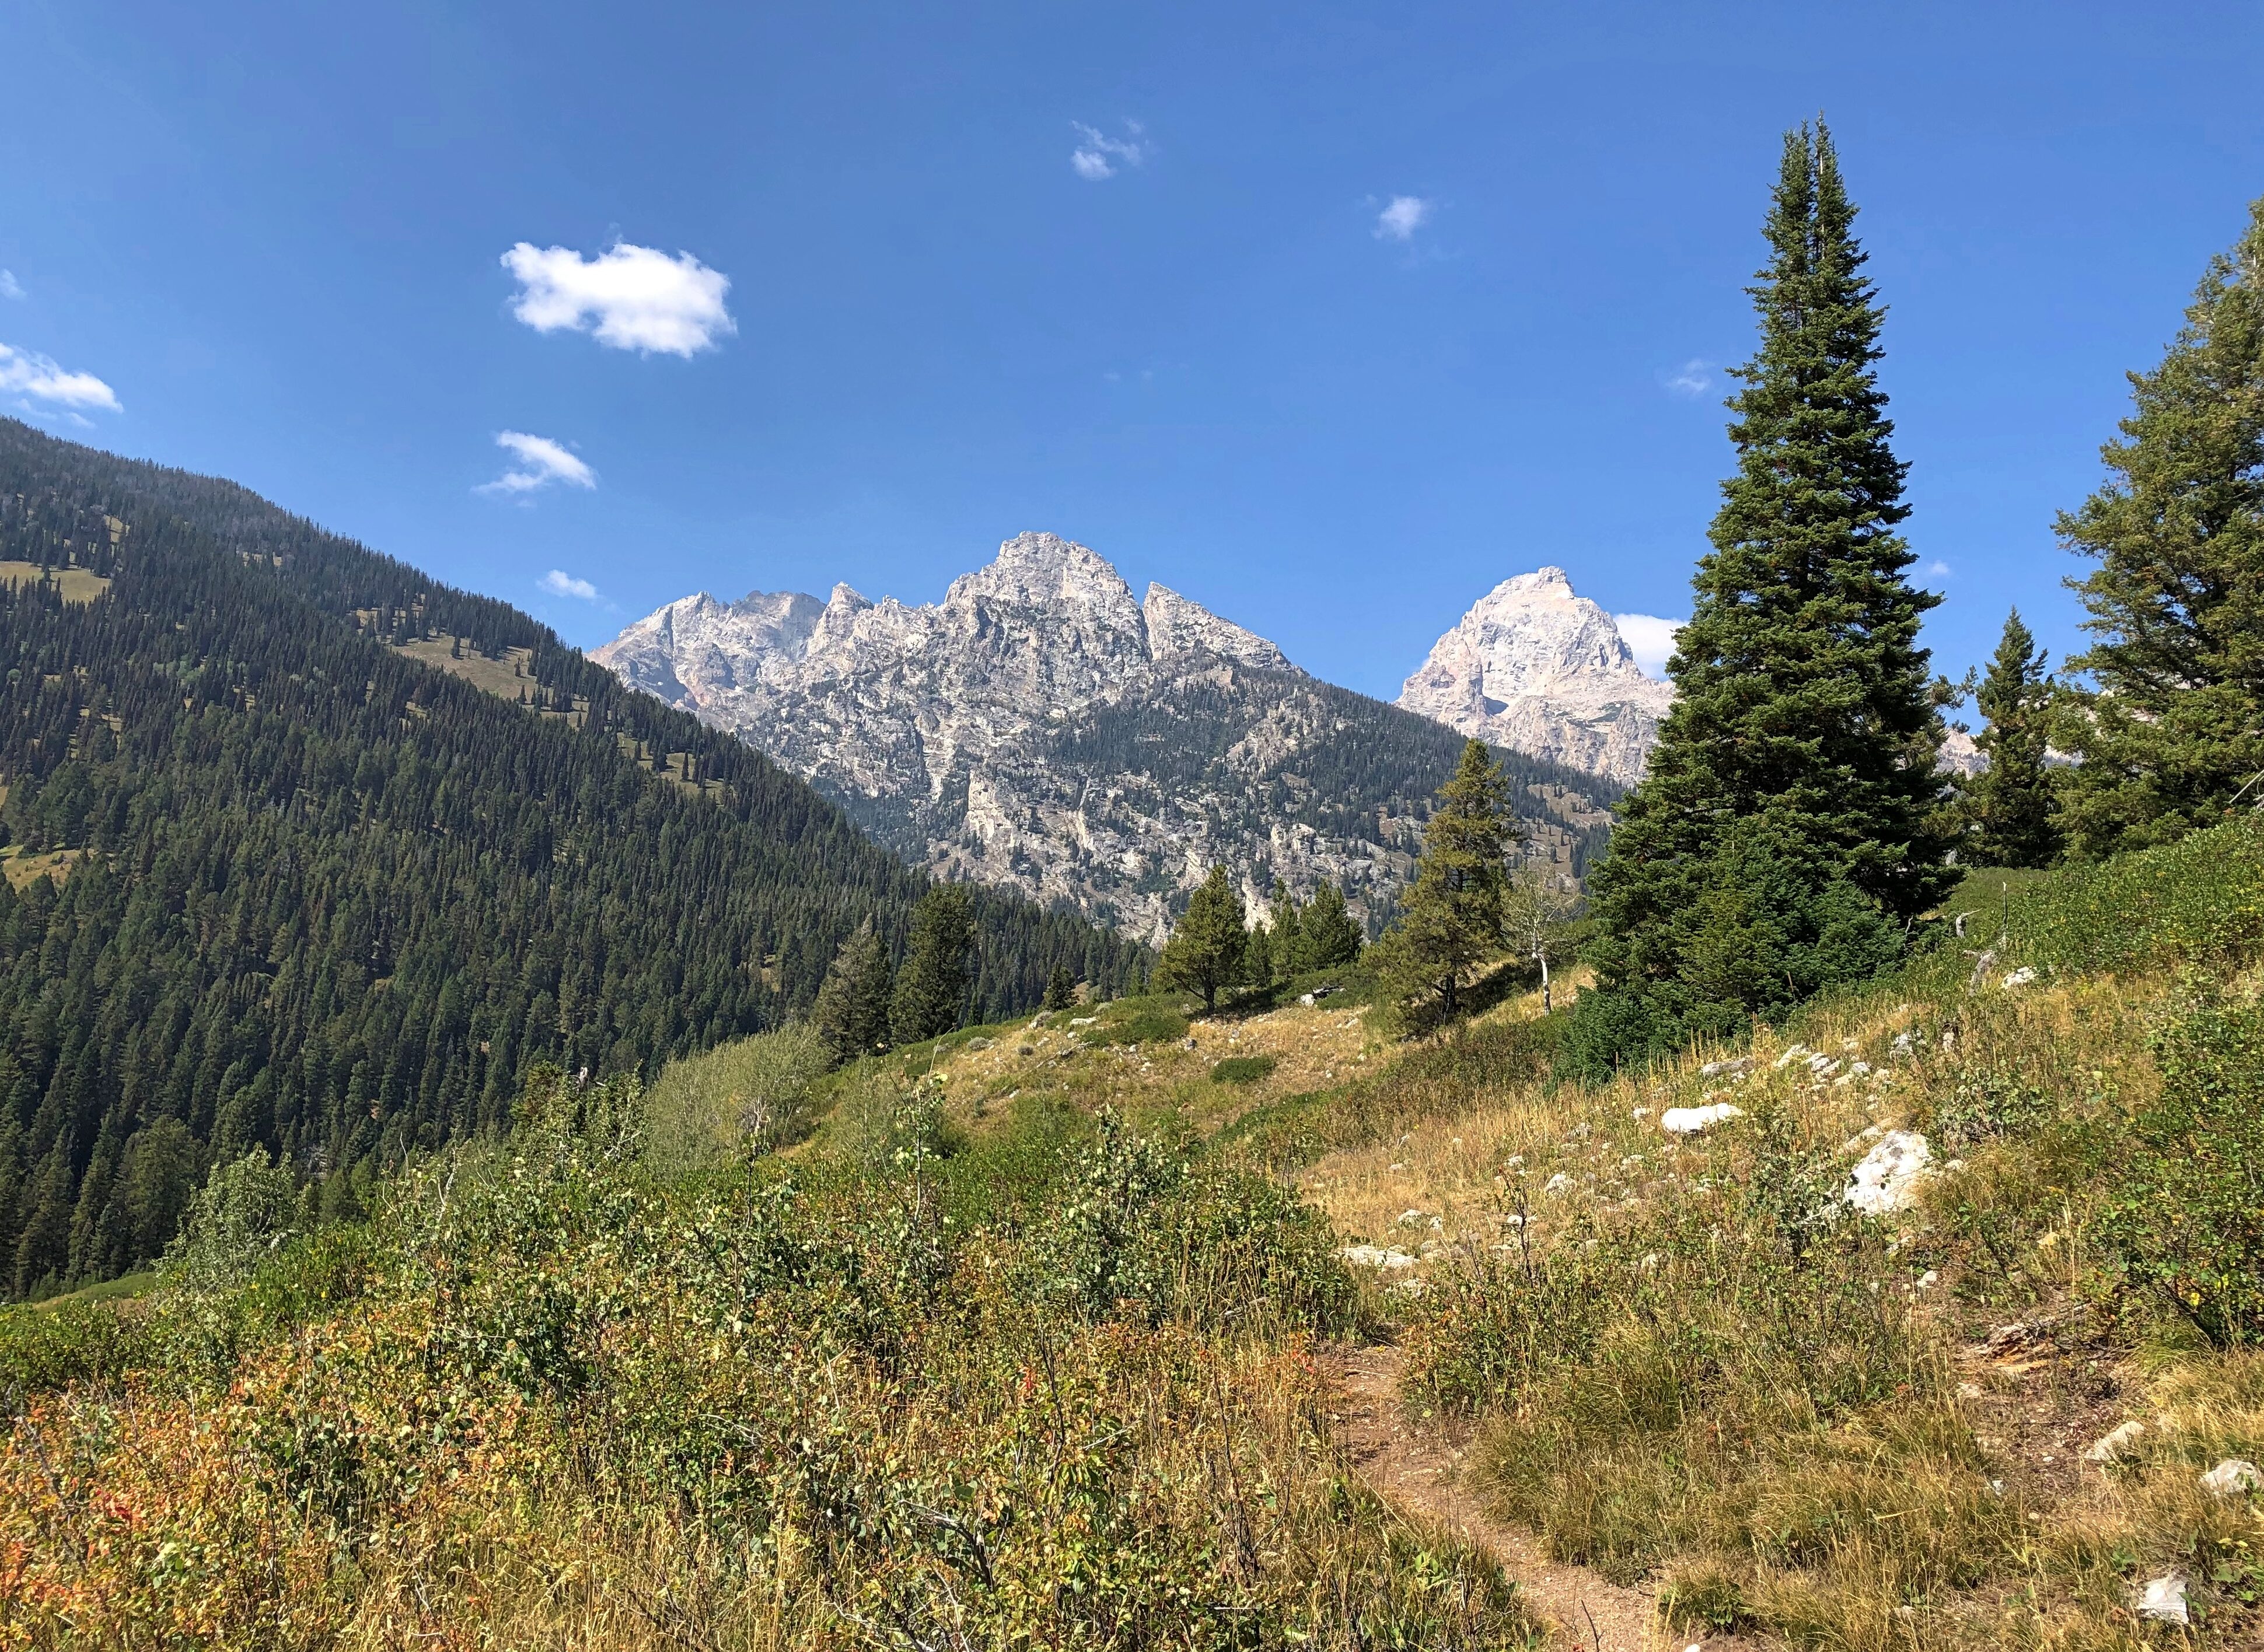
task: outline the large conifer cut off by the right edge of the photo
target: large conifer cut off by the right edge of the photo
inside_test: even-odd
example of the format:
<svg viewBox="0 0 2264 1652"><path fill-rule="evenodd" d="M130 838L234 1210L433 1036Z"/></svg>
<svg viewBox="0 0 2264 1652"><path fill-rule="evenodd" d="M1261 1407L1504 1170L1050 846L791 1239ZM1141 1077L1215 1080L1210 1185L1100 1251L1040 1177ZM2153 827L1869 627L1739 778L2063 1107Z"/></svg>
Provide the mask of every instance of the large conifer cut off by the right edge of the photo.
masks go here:
<svg viewBox="0 0 2264 1652"><path fill-rule="evenodd" d="M2099 561L2076 586L2096 640L2067 661L2096 692L2056 735L2092 855L2210 826L2264 772L2264 199L2130 392L2115 480L2058 520Z"/></svg>

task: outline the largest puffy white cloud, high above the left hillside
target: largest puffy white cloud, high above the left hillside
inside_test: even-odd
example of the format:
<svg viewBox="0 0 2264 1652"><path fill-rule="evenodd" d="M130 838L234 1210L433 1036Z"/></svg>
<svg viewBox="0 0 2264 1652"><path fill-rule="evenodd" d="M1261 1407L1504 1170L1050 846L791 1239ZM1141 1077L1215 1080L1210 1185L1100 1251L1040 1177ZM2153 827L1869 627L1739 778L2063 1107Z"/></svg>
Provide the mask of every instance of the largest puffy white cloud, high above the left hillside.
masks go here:
<svg viewBox="0 0 2264 1652"><path fill-rule="evenodd" d="M691 253L614 242L595 258L573 247L518 242L503 253L518 281L512 315L537 333L593 333L616 351L695 355L738 321L722 308L731 278Z"/></svg>

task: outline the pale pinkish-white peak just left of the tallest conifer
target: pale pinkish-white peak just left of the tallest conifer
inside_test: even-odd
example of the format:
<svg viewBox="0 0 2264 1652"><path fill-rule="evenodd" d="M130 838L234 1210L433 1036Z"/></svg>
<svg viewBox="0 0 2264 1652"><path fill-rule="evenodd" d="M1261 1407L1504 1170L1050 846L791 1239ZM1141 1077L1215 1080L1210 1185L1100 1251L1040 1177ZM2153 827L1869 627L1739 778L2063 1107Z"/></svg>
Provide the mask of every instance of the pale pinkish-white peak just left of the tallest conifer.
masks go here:
<svg viewBox="0 0 2264 1652"><path fill-rule="evenodd" d="M1503 579L1399 690L1399 706L1490 745L1632 785L1673 706L1562 568Z"/></svg>

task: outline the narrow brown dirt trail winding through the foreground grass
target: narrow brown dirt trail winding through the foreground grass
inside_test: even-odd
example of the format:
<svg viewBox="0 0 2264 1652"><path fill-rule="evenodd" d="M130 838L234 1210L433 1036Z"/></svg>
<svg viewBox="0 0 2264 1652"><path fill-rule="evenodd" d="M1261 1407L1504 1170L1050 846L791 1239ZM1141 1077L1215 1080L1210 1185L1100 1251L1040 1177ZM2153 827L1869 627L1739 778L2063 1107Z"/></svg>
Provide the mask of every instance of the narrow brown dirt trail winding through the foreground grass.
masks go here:
<svg viewBox="0 0 2264 1652"><path fill-rule="evenodd" d="M1361 1475L1395 1507L1458 1530L1485 1548L1517 1580L1526 1600L1578 1652L1732 1652L1748 1643L1730 1636L1693 1641L1657 1620L1641 1589L1621 1589L1585 1566L1546 1559L1526 1532L1490 1521L1463 1487L1463 1437L1417 1432L1399 1414L1401 1353L1395 1346L1354 1349L1340 1367L1338 1423Z"/></svg>

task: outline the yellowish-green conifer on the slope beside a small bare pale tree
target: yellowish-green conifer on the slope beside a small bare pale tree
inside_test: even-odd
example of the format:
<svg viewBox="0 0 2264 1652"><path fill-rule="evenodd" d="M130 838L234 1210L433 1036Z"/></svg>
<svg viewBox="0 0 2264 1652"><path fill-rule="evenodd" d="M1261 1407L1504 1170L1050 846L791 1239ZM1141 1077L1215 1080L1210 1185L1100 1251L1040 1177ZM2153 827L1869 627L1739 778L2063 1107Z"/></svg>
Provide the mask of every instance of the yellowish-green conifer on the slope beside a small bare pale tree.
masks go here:
<svg viewBox="0 0 2264 1652"><path fill-rule="evenodd" d="M1463 747L1463 760L1453 778L1440 788L1438 808L1424 824L1415 885L1401 901L1399 921L1379 946L1383 982L1410 1032L1460 1014L1469 973L1501 953L1506 862L1510 846L1521 837L1508 792L1501 765L1483 740L1472 740ZM1315 894L1313 912L1320 912L1320 905L1322 898ZM1313 926L1306 930L1311 946Z"/></svg>

